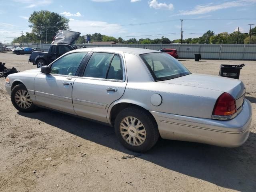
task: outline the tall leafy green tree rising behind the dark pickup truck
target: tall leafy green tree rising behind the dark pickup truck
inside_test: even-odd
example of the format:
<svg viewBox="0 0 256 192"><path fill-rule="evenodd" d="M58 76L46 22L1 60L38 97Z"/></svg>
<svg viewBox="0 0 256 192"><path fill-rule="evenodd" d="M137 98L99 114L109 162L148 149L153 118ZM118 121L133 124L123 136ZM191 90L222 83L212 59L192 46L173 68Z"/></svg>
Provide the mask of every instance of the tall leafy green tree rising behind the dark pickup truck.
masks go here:
<svg viewBox="0 0 256 192"><path fill-rule="evenodd" d="M47 10L34 11L28 18L28 22L30 23L29 27L32 28L32 33L41 38L43 42L46 40L46 30L47 42L52 42L58 30L69 29L67 18Z"/></svg>

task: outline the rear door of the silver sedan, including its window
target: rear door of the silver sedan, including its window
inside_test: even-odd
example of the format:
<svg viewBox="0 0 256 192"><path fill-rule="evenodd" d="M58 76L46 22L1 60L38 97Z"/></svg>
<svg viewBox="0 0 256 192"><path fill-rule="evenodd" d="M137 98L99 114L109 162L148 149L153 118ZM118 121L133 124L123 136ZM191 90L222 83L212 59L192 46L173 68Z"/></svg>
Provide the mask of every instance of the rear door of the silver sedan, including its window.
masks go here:
<svg viewBox="0 0 256 192"><path fill-rule="evenodd" d="M72 99L76 114L107 122L108 107L122 97L126 84L122 55L94 52L74 82Z"/></svg>

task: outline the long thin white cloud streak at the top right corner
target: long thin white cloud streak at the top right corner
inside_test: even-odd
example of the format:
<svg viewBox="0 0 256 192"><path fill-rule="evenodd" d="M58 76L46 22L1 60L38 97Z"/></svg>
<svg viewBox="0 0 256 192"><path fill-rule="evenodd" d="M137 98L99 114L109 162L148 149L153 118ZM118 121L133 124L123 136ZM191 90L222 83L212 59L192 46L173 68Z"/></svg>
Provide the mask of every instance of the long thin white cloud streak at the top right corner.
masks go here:
<svg viewBox="0 0 256 192"><path fill-rule="evenodd" d="M237 0L237 1L224 2L216 5L212 5L212 3L208 5L197 5L192 10L180 10L178 15L206 14L216 10L227 9L232 7L240 7L240 6L249 6L252 4L256 4L256 0Z"/></svg>

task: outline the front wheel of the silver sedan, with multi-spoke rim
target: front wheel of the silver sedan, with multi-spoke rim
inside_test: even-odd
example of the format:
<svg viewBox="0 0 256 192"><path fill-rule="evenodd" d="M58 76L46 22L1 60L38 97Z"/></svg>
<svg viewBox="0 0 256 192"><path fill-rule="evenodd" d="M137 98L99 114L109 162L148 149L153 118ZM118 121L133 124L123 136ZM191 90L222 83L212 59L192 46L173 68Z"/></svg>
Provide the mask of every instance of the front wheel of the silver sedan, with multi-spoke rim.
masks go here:
<svg viewBox="0 0 256 192"><path fill-rule="evenodd" d="M33 112L37 108L24 84L18 84L12 89L11 100L13 106L20 112Z"/></svg>

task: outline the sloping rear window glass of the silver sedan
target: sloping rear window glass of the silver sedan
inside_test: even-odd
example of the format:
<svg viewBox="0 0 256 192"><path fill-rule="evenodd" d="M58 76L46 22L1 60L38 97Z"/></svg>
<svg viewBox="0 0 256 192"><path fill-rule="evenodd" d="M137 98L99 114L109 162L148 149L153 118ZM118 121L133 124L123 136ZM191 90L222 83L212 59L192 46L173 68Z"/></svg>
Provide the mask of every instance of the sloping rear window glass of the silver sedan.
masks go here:
<svg viewBox="0 0 256 192"><path fill-rule="evenodd" d="M155 81L168 80L191 74L178 60L166 53L140 55Z"/></svg>

